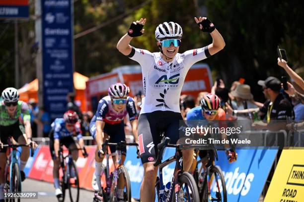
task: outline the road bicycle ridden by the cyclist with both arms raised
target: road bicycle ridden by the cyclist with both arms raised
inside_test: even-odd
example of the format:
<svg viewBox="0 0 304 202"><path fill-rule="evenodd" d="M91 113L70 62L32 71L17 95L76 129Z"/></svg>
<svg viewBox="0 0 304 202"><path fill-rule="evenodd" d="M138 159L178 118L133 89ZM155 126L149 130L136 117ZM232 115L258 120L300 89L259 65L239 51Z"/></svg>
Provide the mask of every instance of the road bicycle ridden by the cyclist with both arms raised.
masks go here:
<svg viewBox="0 0 304 202"><path fill-rule="evenodd" d="M155 189L158 202L199 202L199 193L193 176L182 169L182 152L179 145L169 144L170 138L163 138L157 145L158 155L154 166L159 166L159 175L156 178ZM175 155L161 162L166 147L176 148ZM162 181L162 169L175 161L175 169L172 181L166 187ZM168 185L168 184L167 184Z"/></svg>

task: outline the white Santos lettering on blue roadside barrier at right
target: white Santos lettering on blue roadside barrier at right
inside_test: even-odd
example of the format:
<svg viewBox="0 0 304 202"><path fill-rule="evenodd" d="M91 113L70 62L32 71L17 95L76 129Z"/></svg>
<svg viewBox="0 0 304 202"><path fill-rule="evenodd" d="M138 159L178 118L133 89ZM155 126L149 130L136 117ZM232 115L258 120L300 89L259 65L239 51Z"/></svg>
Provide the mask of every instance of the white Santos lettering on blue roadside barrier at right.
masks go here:
<svg viewBox="0 0 304 202"><path fill-rule="evenodd" d="M253 181L254 174L248 173L247 176L244 172L238 173L239 167L235 168L234 172L224 172L225 182L226 182L226 190L227 194L245 196L250 191L251 182ZM212 183L212 191L216 192L217 184L215 182ZM221 186L222 191L222 186Z"/></svg>

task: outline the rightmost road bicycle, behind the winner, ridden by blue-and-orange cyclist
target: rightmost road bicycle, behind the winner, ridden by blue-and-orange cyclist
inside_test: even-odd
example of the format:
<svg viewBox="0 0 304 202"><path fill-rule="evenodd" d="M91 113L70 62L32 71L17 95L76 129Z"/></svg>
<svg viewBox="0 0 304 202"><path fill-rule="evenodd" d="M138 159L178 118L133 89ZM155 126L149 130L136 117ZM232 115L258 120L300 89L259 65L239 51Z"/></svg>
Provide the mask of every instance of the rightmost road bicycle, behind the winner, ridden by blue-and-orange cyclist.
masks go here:
<svg viewBox="0 0 304 202"><path fill-rule="evenodd" d="M198 150L197 154L200 151L203 150ZM207 155L197 161L193 174L199 190L200 200L202 202L227 202L226 183L223 172L219 166L214 165L214 159L219 160L217 150L205 151ZM203 163L206 161L208 163L205 165L206 170L204 170ZM199 163L201 163L200 168L198 168Z"/></svg>

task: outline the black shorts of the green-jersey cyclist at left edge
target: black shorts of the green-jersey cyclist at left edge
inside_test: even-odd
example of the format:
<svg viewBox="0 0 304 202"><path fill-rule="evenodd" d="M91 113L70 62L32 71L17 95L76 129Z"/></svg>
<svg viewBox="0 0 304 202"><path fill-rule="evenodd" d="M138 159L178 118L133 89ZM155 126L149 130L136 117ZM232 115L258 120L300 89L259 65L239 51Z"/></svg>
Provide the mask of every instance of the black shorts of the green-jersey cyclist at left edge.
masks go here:
<svg viewBox="0 0 304 202"><path fill-rule="evenodd" d="M1 126L0 125L0 140L3 145L7 145L8 137L13 137L13 139L18 142L18 138L23 136L24 126L19 124L19 121L9 126ZM7 147L1 149L0 152L5 153Z"/></svg>

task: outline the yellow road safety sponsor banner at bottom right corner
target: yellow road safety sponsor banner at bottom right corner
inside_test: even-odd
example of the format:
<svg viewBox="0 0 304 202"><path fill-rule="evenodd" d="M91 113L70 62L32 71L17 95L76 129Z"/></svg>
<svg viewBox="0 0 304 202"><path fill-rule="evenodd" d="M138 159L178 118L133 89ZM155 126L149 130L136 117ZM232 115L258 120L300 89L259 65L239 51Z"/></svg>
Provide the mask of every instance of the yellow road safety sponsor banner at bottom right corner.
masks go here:
<svg viewBox="0 0 304 202"><path fill-rule="evenodd" d="M265 202L304 201L304 150L283 150Z"/></svg>

